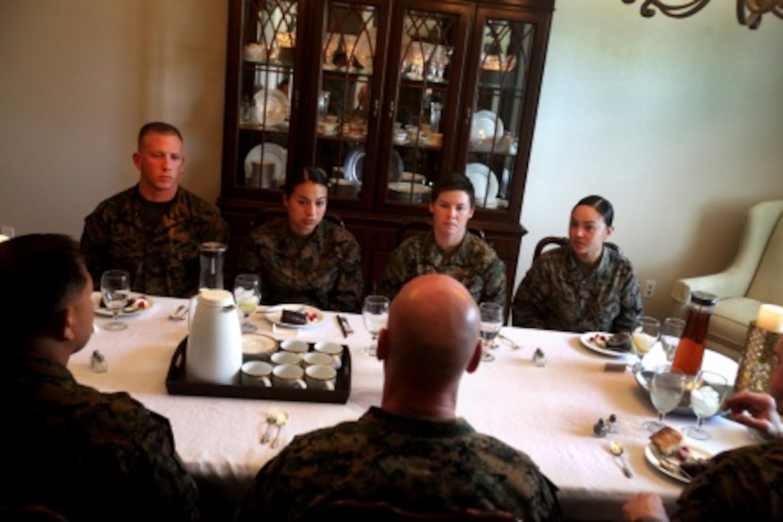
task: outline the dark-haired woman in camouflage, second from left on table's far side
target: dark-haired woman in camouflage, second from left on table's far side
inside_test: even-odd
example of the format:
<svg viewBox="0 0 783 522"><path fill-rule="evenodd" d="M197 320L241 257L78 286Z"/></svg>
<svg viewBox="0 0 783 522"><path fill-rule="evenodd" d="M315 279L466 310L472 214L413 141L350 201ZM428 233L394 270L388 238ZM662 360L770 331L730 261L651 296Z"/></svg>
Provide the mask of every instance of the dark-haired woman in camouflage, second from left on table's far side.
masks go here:
<svg viewBox="0 0 783 522"><path fill-rule="evenodd" d="M327 193L318 169L289 176L283 187L288 215L247 237L240 272L261 277L263 303L359 312L361 249L348 230L323 219Z"/></svg>

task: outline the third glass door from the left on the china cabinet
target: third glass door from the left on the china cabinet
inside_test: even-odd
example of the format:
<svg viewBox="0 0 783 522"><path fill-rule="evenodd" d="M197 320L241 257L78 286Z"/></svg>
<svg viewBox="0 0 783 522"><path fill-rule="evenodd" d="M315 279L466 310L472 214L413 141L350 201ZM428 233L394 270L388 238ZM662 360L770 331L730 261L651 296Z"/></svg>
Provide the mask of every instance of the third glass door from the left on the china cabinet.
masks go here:
<svg viewBox="0 0 783 522"><path fill-rule="evenodd" d="M467 7L435 2L407 2L391 32L391 129L386 203L426 204L431 184L450 170L455 140L460 49L467 38ZM430 9L431 7L431 9Z"/></svg>

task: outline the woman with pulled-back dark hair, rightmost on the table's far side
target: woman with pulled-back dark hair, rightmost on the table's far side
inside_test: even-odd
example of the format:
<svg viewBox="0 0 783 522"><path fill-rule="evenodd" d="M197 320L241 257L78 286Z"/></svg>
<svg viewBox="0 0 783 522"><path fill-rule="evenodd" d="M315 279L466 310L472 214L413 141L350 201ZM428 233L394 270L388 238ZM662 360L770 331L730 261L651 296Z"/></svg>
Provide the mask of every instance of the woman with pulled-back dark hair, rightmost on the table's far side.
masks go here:
<svg viewBox="0 0 783 522"><path fill-rule="evenodd" d="M588 196L571 211L568 245L544 252L525 274L512 306L514 326L565 332L630 332L642 315L630 261L604 245L615 211Z"/></svg>

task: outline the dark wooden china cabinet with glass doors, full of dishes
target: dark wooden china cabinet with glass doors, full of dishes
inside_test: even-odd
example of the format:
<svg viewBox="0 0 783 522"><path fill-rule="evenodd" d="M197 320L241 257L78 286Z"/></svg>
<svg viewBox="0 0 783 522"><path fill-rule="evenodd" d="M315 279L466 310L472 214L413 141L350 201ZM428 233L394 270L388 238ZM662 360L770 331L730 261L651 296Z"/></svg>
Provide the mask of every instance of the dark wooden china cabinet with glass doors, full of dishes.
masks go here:
<svg viewBox="0 0 783 522"><path fill-rule="evenodd" d="M218 205L233 258L287 172L331 179L366 292L431 183L462 172L509 295L554 0L230 0Z"/></svg>

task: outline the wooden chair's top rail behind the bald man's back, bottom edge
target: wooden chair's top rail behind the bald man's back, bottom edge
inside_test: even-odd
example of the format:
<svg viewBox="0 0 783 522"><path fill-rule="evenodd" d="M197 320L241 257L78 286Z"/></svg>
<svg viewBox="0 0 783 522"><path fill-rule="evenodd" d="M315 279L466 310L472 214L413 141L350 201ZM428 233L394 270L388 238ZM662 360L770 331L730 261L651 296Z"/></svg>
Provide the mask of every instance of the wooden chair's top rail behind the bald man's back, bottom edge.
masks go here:
<svg viewBox="0 0 783 522"><path fill-rule="evenodd" d="M315 513L314 513L315 514ZM306 517L310 518L310 517ZM516 522L506 511L464 509L457 512L413 511L391 506L388 502L337 500L320 509L312 520L340 520L341 522Z"/></svg>

